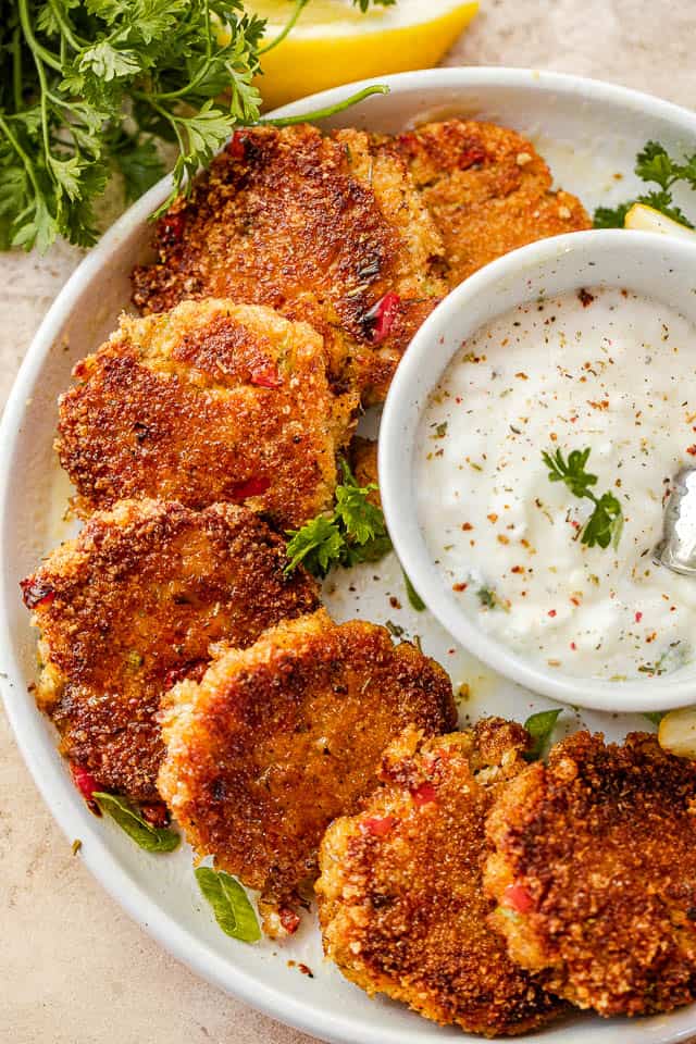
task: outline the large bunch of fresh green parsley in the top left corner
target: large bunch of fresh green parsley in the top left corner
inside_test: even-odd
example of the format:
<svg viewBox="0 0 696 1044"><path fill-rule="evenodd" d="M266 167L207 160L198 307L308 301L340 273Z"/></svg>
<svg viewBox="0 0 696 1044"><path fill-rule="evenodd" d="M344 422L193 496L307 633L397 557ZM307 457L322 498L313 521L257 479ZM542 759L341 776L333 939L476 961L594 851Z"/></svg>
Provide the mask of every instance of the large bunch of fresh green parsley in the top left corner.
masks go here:
<svg viewBox="0 0 696 1044"><path fill-rule="evenodd" d="M111 175L136 199L165 172L163 144L172 195L185 187L259 121L264 27L241 0L0 0L0 248L89 246Z"/></svg>

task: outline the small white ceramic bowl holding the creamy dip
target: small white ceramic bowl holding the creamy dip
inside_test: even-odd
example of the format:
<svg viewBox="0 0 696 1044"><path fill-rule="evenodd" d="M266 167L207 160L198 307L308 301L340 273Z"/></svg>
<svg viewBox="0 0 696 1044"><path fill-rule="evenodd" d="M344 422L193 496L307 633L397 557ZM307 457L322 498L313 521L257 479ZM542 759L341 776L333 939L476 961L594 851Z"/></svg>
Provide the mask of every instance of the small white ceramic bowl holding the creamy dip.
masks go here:
<svg viewBox="0 0 696 1044"><path fill-rule="evenodd" d="M589 672L585 676L582 663L579 670L574 662L572 673L562 666L547 667L536 655L521 651L519 641L515 651L500 639L499 631L493 634L484 629L452 591L451 577L436 563L419 514L419 498L422 504L427 497L422 475L418 478L421 489L417 489L415 461L424 438L421 419L462 343L517 306L558 298L583 287L626 289L696 323L696 246L622 229L573 233L517 250L468 278L419 330L389 390L380 430L382 499L396 551L413 586L470 652L533 692L562 703L608 711L667 710L696 701L693 657L669 673L610 680ZM692 347L696 353L696 343ZM642 365L643 358L636 358L636 366ZM534 369L533 352L525 369ZM539 445L538 455L548 448L546 443ZM492 455L497 449L500 447L489 446ZM593 470L592 460L587 470ZM432 520L430 524L432 546ZM601 556L611 550L593 548L595 552ZM469 554L476 567L476 555L482 552L474 546ZM543 548L539 554L544 554ZM478 564L485 567L484 562ZM696 580L689 582L696 584ZM556 616L551 604L548 608L549 616Z"/></svg>

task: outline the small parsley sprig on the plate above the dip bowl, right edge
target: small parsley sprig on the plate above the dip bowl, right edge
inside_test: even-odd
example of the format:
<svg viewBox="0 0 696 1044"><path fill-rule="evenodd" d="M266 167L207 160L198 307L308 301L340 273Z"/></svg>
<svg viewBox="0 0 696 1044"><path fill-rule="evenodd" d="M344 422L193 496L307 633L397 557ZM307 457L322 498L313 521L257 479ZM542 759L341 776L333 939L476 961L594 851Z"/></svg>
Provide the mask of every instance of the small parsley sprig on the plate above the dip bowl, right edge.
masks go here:
<svg viewBox="0 0 696 1044"><path fill-rule="evenodd" d="M667 217L679 221L688 228L694 225L672 198L672 187L679 182L696 190L696 152L684 157L682 162L673 160L659 141L647 141L645 148L635 158L635 173L657 189L636 196L618 207L598 207L595 210L595 228L623 228L623 222L634 203L645 203L659 210Z"/></svg>

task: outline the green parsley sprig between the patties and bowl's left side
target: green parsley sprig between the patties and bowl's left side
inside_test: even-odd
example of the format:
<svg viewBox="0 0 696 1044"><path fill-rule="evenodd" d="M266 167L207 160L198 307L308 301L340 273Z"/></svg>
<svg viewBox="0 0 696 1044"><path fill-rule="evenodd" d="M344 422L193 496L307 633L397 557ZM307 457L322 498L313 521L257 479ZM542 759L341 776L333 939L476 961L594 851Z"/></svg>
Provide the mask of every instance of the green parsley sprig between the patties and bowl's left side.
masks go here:
<svg viewBox="0 0 696 1044"><path fill-rule="evenodd" d="M285 572L302 563L314 576L325 576L335 566L376 562L391 549L382 508L369 500L375 483L360 486L345 460L343 483L336 486L331 514L318 514L300 530L290 530Z"/></svg>

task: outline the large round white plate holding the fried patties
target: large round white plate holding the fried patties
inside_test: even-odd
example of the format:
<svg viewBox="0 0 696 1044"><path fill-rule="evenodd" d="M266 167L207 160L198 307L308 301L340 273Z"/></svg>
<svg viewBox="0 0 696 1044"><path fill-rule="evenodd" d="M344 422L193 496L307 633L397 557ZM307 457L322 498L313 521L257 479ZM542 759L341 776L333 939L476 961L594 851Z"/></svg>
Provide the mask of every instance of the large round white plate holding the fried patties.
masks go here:
<svg viewBox="0 0 696 1044"><path fill-rule="evenodd" d="M557 182L576 192L588 210L614 203L637 188L636 151L648 139L669 151L694 151L696 116L647 95L589 79L510 69L443 69L385 77L391 92L328 121L399 130L425 119L465 115L493 120L532 138ZM328 105L352 88L326 91L283 110L296 114ZM620 177L618 177L620 175ZM283 945L256 946L217 929L198 894L187 847L170 856L148 855L110 821L87 810L55 751L55 735L38 712L27 686L36 675L36 633L28 625L18 582L55 543L74 532L63 522L70 487L52 451L55 399L69 386L73 364L92 351L128 307L128 274L147 257L152 233L147 217L166 197L164 179L132 207L90 251L58 296L20 371L0 430L0 657L3 695L24 758L69 840L82 840L80 857L129 913L179 960L211 982L291 1026L336 1044L437 1044L473 1040L440 1029L388 1000L371 1000L324 962L315 921L306 917ZM630 235L630 233L626 233ZM406 563L408 566L408 563ZM393 608L396 596L402 608ZM548 706L497 678L451 646L426 613L408 606L401 573L390 558L326 585L338 619L391 620L420 635L426 652L449 670L455 686L470 686L461 721L497 713L523 721ZM574 714L564 710L561 729L582 722L621 737L649 729L639 716ZM288 961L307 964L313 978ZM696 1006L669 1016L604 1021L579 1016L524 1040L545 1044L632 1044L683 1041L696 1032Z"/></svg>

